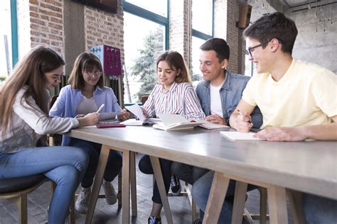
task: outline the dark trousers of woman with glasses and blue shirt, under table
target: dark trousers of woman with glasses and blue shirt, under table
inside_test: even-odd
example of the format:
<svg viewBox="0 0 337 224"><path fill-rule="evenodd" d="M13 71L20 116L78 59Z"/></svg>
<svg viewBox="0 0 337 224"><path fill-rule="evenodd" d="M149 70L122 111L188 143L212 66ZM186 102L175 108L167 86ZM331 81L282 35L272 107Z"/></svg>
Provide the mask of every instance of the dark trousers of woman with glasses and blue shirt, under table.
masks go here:
<svg viewBox="0 0 337 224"><path fill-rule="evenodd" d="M69 145L79 147L81 150L85 151L87 155L89 155L89 164L82 179L81 186L85 188L90 187L94 181L102 145L77 138L71 138ZM105 168L104 174L104 179L106 181L113 181L114 178L117 177L122 169L122 162L122 153L119 151L110 150L109 157L107 159L107 167Z"/></svg>

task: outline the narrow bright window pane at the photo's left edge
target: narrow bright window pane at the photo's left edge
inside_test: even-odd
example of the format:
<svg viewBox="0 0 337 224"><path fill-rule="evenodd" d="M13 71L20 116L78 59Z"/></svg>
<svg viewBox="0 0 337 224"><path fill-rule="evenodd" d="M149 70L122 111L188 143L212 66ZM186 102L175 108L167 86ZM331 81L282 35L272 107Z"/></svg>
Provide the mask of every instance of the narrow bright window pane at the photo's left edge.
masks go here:
<svg viewBox="0 0 337 224"><path fill-rule="evenodd" d="M11 72L11 5L1 1L0 5L0 83Z"/></svg>

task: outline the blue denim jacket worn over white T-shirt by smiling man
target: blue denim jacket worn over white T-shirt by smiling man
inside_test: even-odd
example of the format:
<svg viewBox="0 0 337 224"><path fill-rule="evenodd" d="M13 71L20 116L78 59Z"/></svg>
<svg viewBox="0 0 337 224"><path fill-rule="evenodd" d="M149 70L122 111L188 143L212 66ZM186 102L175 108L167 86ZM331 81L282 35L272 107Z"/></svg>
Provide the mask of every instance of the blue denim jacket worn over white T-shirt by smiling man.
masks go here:
<svg viewBox="0 0 337 224"><path fill-rule="evenodd" d="M229 123L230 115L235 110L242 97L242 91L245 89L250 77L242 74L230 74L226 71L225 82L219 91L221 107L223 108L223 118ZM200 100L201 107L206 116L210 115L210 81L202 81L196 87L196 94ZM262 125L262 113L258 107L250 115L254 128L260 128Z"/></svg>

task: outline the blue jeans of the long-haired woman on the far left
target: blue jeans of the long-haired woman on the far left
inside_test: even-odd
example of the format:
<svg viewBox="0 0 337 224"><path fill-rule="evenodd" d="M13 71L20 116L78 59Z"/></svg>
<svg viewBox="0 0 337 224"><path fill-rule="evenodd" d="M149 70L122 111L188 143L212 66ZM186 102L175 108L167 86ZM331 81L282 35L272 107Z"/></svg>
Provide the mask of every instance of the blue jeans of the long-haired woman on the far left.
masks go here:
<svg viewBox="0 0 337 224"><path fill-rule="evenodd" d="M28 148L15 153L0 152L0 179L44 174L56 183L48 223L65 223L70 200L87 169L88 157L75 147Z"/></svg>

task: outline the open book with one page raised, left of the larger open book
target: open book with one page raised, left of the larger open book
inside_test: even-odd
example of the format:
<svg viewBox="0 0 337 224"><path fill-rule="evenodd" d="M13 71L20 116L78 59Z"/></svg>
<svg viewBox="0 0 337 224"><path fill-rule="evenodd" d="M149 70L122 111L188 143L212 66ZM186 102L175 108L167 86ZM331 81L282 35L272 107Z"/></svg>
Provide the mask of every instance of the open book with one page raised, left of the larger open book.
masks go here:
<svg viewBox="0 0 337 224"><path fill-rule="evenodd" d="M145 118L141 107L135 103L132 106L126 106L128 111L134 114L139 120L129 119L127 121L121 122L124 125L132 125L132 126L141 126L141 125L153 125L154 123L160 122L158 118Z"/></svg>

